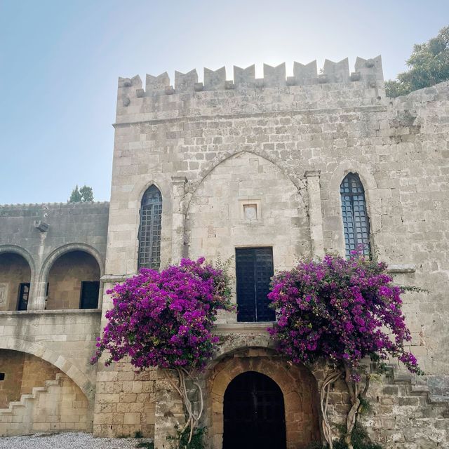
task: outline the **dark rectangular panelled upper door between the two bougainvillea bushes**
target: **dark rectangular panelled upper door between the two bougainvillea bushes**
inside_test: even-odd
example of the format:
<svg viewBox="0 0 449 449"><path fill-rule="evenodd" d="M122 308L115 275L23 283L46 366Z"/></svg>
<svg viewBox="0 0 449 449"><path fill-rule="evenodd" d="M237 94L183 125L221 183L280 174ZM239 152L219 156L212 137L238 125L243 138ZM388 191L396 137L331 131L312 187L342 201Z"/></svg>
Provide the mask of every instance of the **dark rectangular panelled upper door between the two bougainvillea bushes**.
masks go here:
<svg viewBox="0 0 449 449"><path fill-rule="evenodd" d="M273 248L236 248L237 321L274 321L267 295Z"/></svg>

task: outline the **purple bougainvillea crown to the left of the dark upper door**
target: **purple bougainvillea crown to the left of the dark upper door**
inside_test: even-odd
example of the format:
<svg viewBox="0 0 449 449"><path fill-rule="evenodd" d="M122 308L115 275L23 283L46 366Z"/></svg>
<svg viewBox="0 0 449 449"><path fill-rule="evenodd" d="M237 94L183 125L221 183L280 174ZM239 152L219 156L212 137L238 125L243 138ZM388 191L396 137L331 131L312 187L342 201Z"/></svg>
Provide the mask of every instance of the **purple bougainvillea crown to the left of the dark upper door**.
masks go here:
<svg viewBox="0 0 449 449"><path fill-rule="evenodd" d="M203 263L182 259L161 272L142 268L107 291L114 307L92 363L107 350L107 365L129 356L140 369L204 368L218 343L217 311L232 305L225 272Z"/></svg>

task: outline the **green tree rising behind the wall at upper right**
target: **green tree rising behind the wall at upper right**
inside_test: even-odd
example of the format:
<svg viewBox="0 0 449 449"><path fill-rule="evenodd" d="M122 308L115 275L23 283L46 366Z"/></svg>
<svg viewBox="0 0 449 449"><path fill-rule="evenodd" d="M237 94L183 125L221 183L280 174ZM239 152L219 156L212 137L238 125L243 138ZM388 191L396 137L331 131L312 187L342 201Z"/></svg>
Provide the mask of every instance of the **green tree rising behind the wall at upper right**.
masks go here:
<svg viewBox="0 0 449 449"><path fill-rule="evenodd" d="M385 83L389 97L407 95L424 87L434 86L449 79L449 26L426 43L413 46L406 61L410 69L398 74L397 79Z"/></svg>

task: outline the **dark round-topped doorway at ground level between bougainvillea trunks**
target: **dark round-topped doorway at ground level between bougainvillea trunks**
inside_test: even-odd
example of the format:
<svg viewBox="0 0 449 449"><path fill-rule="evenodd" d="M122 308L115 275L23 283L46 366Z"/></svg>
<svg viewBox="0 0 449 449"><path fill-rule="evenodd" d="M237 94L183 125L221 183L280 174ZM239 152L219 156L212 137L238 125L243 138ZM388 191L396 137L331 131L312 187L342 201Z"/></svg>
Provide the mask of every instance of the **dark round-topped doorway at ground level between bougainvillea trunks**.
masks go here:
<svg viewBox="0 0 449 449"><path fill-rule="evenodd" d="M283 394L268 376L236 376L225 391L223 414L223 449L286 448Z"/></svg>

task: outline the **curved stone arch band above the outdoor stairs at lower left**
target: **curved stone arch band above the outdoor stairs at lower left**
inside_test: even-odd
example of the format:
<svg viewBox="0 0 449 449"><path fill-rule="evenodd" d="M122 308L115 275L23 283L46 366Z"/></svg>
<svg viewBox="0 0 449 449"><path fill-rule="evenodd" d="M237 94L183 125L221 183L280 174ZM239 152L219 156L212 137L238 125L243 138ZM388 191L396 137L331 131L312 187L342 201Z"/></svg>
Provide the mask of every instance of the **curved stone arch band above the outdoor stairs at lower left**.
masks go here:
<svg viewBox="0 0 449 449"><path fill-rule="evenodd" d="M37 342L27 342L20 338L5 337L0 339L0 349L10 349L11 351L20 351L33 356L42 358L42 360L51 363L56 368L59 368L62 373L65 373L86 395L88 401L93 401L95 398L95 385L92 384L88 377L79 368L76 368L71 361L58 354L57 352L43 346Z"/></svg>

